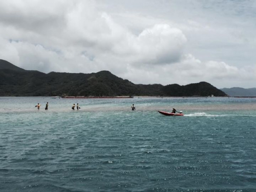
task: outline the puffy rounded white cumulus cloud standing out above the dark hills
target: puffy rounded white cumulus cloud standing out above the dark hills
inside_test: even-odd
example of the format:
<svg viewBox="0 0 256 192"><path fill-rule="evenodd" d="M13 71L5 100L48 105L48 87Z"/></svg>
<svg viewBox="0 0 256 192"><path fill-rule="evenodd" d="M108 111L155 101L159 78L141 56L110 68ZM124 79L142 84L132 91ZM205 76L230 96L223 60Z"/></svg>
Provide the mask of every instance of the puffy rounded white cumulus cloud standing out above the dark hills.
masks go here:
<svg viewBox="0 0 256 192"><path fill-rule="evenodd" d="M180 29L168 24L156 24L138 36L126 34L113 47L113 53L125 56L131 64L169 64L178 61L186 44Z"/></svg>

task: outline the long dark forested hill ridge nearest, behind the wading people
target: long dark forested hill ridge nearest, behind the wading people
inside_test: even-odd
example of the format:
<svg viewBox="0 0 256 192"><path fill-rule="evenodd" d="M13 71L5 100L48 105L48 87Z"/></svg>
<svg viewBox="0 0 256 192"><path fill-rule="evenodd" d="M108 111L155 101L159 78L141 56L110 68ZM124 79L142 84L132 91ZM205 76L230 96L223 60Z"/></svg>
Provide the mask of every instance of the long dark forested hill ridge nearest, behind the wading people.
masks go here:
<svg viewBox="0 0 256 192"><path fill-rule="evenodd" d="M98 73L41 73L0 60L0 96L227 96L207 82L134 84L109 71Z"/></svg>

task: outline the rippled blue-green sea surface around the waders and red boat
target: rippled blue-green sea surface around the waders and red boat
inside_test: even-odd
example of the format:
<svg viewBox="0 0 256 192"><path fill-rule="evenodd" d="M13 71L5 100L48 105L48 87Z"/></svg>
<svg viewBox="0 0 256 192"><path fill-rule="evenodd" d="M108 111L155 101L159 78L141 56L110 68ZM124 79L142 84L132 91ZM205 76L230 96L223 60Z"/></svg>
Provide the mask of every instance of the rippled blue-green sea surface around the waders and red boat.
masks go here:
<svg viewBox="0 0 256 192"><path fill-rule="evenodd" d="M256 192L256 99L0 97L0 192Z"/></svg>

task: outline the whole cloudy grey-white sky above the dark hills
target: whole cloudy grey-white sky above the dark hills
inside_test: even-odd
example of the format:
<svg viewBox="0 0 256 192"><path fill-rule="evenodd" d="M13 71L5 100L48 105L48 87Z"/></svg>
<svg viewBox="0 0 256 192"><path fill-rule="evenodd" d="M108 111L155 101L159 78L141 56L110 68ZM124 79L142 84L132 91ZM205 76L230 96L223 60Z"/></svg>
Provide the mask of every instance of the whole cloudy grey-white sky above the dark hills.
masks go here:
<svg viewBox="0 0 256 192"><path fill-rule="evenodd" d="M256 87L255 0L0 1L0 59L135 84Z"/></svg>

